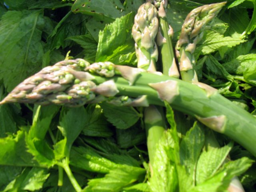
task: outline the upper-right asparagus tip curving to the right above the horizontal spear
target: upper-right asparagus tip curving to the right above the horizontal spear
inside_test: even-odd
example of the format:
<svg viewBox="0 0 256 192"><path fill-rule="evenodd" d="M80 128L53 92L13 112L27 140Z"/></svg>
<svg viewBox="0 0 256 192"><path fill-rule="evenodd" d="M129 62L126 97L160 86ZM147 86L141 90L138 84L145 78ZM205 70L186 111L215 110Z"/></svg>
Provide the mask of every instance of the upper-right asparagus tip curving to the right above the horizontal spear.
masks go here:
<svg viewBox="0 0 256 192"><path fill-rule="evenodd" d="M225 4L226 2L204 5L192 10L186 17L176 44L176 56L179 60L182 80L198 81L194 71L196 44L202 39L206 24L217 16Z"/></svg>

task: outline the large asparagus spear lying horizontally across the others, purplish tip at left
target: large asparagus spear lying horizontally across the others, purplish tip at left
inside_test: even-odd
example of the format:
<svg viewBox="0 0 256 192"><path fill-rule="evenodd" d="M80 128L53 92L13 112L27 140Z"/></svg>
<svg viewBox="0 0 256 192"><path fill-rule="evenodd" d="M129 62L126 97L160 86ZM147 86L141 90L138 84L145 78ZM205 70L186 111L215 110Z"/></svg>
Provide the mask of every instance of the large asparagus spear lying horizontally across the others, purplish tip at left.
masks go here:
<svg viewBox="0 0 256 192"><path fill-rule="evenodd" d="M256 156L256 118L218 94L214 88L128 66L108 64L102 65L102 70L93 70L94 64L86 67L87 64L77 59L48 66L24 80L0 104L29 102L80 106L102 100L99 97L112 99L128 96L130 101L125 103L127 106L164 106L165 100L172 108L226 134ZM104 76L112 70L114 76ZM73 78L69 77L70 74Z"/></svg>

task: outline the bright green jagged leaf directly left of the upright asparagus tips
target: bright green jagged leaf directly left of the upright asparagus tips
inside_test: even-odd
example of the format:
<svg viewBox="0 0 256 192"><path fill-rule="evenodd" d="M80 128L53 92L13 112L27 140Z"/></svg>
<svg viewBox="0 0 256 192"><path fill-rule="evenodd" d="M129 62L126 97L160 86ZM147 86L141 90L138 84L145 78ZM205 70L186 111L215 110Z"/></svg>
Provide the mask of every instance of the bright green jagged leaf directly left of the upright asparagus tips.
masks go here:
<svg viewBox="0 0 256 192"><path fill-rule="evenodd" d="M99 34L96 62L110 61L114 64L132 64L136 59L132 25L134 14L117 18Z"/></svg>

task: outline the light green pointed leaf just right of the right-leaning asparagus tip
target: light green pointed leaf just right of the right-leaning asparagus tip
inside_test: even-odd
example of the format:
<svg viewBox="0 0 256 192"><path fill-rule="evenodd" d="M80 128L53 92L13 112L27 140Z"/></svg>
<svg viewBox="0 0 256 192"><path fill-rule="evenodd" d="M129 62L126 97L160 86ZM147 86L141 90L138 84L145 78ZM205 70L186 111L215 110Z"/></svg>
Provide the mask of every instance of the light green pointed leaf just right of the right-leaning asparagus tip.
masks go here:
<svg viewBox="0 0 256 192"><path fill-rule="evenodd" d="M216 33L214 31L206 31L204 38L198 44L196 53L202 52L202 54L210 54L212 52L218 51L220 48L226 46L231 48L236 46L245 40L234 37L224 37L222 34Z"/></svg>

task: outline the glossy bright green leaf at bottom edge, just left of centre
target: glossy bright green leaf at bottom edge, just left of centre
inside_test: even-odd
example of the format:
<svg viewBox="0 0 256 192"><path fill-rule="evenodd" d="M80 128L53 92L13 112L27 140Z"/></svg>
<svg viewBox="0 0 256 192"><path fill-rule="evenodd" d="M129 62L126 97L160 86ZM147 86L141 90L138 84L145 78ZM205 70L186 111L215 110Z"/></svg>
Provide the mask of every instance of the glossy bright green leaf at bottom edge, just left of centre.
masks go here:
<svg viewBox="0 0 256 192"><path fill-rule="evenodd" d="M112 169L103 178L91 179L84 192L122 191L126 186L137 181L143 181L146 170L139 167L122 166Z"/></svg>

